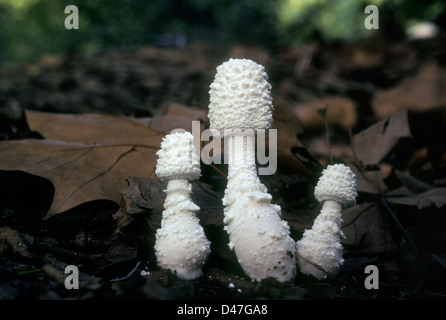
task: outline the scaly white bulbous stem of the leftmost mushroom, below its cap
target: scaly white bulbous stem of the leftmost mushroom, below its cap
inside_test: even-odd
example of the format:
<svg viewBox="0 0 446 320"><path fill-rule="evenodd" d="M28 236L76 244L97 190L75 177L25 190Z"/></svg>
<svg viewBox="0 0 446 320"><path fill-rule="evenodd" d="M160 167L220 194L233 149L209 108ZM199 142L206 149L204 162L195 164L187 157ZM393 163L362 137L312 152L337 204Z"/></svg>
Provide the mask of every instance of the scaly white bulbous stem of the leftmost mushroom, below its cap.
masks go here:
<svg viewBox="0 0 446 320"><path fill-rule="evenodd" d="M196 279L202 275L210 243L195 215L200 208L190 197L192 185L187 179L171 179L165 192L161 228L156 232L158 265L181 279Z"/></svg>

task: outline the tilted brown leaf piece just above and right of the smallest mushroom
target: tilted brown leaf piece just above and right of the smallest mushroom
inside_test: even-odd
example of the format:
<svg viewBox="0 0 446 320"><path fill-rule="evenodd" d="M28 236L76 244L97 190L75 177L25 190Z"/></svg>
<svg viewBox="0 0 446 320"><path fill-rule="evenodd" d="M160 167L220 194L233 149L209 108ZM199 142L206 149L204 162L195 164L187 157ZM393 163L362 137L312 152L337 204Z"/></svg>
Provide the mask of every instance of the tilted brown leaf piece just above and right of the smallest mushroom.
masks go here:
<svg viewBox="0 0 446 320"><path fill-rule="evenodd" d="M353 136L355 157L364 166L377 165L398 144L411 137L407 111L386 118Z"/></svg>

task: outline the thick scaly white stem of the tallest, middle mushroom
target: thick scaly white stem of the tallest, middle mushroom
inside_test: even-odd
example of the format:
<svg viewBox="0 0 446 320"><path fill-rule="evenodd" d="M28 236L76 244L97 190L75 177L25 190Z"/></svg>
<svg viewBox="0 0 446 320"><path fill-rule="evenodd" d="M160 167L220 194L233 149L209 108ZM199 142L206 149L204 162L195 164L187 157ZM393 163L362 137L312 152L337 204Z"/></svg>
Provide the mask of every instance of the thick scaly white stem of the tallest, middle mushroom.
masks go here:
<svg viewBox="0 0 446 320"><path fill-rule="evenodd" d="M296 272L295 241L280 217L280 206L257 176L255 136L228 138L228 184L223 198L225 230L245 273L256 281L284 282Z"/></svg>

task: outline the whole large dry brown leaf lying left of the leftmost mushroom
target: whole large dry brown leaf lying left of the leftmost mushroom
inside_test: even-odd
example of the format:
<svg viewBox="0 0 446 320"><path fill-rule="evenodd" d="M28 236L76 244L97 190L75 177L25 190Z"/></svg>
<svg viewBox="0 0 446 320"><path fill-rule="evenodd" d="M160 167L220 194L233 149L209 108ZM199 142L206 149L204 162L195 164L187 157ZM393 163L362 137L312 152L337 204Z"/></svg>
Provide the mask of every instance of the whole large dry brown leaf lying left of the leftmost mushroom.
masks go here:
<svg viewBox="0 0 446 320"><path fill-rule="evenodd" d="M1 142L0 169L49 179L55 195L48 215L97 199L119 203L128 176L154 176L164 136L157 130L114 116L27 116L30 128L48 140Z"/></svg>

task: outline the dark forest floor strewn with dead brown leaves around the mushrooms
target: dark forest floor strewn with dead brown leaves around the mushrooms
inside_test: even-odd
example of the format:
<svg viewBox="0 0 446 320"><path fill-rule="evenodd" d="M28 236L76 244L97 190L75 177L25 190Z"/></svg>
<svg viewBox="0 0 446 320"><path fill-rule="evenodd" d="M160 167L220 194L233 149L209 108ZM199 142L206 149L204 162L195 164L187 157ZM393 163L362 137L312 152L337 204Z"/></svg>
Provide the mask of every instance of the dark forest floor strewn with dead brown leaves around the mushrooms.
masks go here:
<svg viewBox="0 0 446 320"><path fill-rule="evenodd" d="M445 299L444 40L198 43L3 66L0 299ZM260 178L296 241L319 213L322 168L342 162L356 174L336 276L251 281L223 230L224 165L202 164L193 184L212 243L203 276L183 281L156 265L165 197L156 149L194 120L208 128L209 85L231 57L269 75L278 168ZM79 270L77 290L65 286L68 265ZM378 288L366 286L368 265Z"/></svg>

